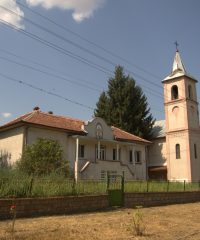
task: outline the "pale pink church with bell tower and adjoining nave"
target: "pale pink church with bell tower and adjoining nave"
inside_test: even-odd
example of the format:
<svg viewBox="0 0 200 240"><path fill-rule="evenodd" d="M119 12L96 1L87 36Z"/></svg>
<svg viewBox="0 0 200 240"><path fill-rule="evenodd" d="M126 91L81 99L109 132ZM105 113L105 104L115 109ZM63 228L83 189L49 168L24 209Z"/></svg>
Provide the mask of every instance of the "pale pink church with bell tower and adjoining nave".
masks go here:
<svg viewBox="0 0 200 240"><path fill-rule="evenodd" d="M172 72L163 81L165 120L153 128L148 148L150 179L200 180L200 126L197 80L176 51Z"/></svg>

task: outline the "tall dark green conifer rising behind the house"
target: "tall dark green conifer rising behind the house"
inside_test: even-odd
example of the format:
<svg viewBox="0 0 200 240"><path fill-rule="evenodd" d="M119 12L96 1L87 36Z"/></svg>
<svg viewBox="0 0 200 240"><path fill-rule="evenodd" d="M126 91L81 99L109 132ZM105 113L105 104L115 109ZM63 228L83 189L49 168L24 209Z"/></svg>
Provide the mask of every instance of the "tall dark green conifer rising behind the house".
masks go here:
<svg viewBox="0 0 200 240"><path fill-rule="evenodd" d="M124 74L123 67L115 68L108 81L108 90L102 92L94 111L107 124L149 139L154 124L147 98L135 80Z"/></svg>

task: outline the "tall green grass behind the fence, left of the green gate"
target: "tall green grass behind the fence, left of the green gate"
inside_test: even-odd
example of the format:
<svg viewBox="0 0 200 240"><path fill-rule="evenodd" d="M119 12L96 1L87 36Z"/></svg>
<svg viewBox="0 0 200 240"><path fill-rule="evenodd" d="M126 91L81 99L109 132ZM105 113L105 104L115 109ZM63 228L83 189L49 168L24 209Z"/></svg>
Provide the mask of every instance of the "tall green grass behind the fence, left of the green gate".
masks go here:
<svg viewBox="0 0 200 240"><path fill-rule="evenodd" d="M0 171L0 198L105 194L106 191L105 181L75 183L64 175L33 177L15 170Z"/></svg>

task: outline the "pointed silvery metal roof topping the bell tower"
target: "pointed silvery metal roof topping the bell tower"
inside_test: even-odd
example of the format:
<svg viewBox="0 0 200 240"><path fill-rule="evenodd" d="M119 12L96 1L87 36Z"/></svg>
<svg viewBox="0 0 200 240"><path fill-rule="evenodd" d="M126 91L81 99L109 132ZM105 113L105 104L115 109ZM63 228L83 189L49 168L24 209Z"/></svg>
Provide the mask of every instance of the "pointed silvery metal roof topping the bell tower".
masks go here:
<svg viewBox="0 0 200 240"><path fill-rule="evenodd" d="M190 74L187 73L186 68L183 64L183 61L181 59L181 55L177 49L174 57L173 66L172 66L172 72L162 82L165 82L167 80L171 80L177 77L182 77L182 76L187 76L193 79L194 81L197 81L194 77L192 77Z"/></svg>

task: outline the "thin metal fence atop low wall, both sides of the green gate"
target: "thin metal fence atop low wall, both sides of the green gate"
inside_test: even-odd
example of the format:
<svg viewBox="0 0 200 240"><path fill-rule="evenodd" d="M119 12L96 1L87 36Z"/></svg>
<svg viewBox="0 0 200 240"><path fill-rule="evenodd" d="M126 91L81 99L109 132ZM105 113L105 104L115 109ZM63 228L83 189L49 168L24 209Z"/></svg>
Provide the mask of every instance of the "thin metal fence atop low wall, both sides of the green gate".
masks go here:
<svg viewBox="0 0 200 240"><path fill-rule="evenodd" d="M114 180L109 189L116 188ZM0 198L6 197L51 197L106 194L108 181L51 178L0 178ZM175 181L125 181L124 192L177 192L200 191L200 182Z"/></svg>

